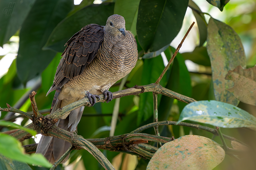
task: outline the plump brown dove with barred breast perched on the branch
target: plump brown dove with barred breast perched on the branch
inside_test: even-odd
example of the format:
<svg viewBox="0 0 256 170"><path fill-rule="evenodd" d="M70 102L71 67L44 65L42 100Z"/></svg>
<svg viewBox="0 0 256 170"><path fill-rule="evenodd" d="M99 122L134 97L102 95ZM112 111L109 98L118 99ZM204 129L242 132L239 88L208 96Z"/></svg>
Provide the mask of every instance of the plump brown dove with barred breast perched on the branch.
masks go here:
<svg viewBox="0 0 256 170"><path fill-rule="evenodd" d="M105 101L110 102L113 94L109 88L129 74L138 59L136 39L126 30L124 17L117 14L109 16L105 26L89 24L81 28L65 46L53 85L47 92L48 95L55 90L50 114L86 96L91 106L102 93ZM76 133L84 108L64 115L56 125ZM70 146L62 139L42 135L36 153L53 164ZM68 156L62 163L67 159Z"/></svg>

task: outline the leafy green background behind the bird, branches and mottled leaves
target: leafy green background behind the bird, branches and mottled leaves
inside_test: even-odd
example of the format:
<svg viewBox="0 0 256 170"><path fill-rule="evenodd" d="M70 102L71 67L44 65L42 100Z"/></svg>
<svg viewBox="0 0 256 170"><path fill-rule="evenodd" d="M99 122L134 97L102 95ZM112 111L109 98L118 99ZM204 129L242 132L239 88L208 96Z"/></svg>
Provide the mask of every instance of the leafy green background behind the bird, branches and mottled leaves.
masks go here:
<svg viewBox="0 0 256 170"><path fill-rule="evenodd" d="M6 18L4 12L9 2L16 2L16 4L13 16ZM154 83L175 51L174 48L180 43L191 23L195 21L195 26L160 84L195 100L215 100L211 63L206 51L206 23L210 16L198 14L199 10L209 13L213 18L232 27L244 46L247 68L254 67L256 64L256 2L254 0L231 0L224 6L223 11L205 0L182 0L182 2L83 0L79 5L74 5L72 0L17 0L0 1L0 9L3 9L3 14L0 15L0 46L3 47L0 49L1 108L5 108L8 103L12 107L32 113L28 95L34 90L37 92L36 102L40 113L48 114L54 93L48 96L46 93L53 83L61 53L65 49L64 44L87 24L105 25L108 16L114 13L125 18L126 30L131 30L136 36L139 51L139 60L126 77L123 89ZM154 21L148 23L148 20L154 20L154 15L159 16L158 13L162 11L164 12L161 18L155 23ZM154 15L150 16L148 13ZM165 34L165 32L168 33ZM174 48L169 47L170 43ZM110 91L118 91L121 81L113 85ZM85 139L108 137L115 100L110 103L96 103L94 107L85 108L78 124L78 134ZM177 121L181 110L186 105L161 95L158 95L158 104L159 121ZM238 107L255 115L255 106L240 102ZM6 112L1 112L0 119L13 121L22 126L30 123L27 118L19 114ZM114 134L129 133L150 122L153 122L152 93L122 97ZM10 128L1 127L1 132L8 130ZM164 126L160 127L160 131L161 136L175 138L188 134L213 137L210 133L180 126ZM145 133L154 134L154 131L148 129ZM252 142L255 139L255 132L244 129L223 129L223 133L240 140ZM221 143L217 138L214 140ZM35 141L38 139L25 140L22 144L31 144ZM113 165L120 169L146 169L148 160L105 150L102 152ZM74 169L102 169L96 159L85 150L72 151L69 162ZM251 160L249 164L252 165ZM245 165L245 162L237 162L226 156L215 169L239 169ZM63 169L60 166L58 168ZM32 169L44 168L32 167Z"/></svg>

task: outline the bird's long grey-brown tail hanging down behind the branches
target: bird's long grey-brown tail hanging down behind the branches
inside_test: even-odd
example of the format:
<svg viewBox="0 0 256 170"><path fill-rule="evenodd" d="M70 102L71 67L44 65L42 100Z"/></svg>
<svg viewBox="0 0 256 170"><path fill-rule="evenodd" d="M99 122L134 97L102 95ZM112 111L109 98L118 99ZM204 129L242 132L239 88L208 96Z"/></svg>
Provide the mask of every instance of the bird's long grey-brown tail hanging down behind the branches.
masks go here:
<svg viewBox="0 0 256 170"><path fill-rule="evenodd" d="M58 100L60 91L61 89L57 89L55 92L50 114L56 111L58 108L63 107L63 103L67 103L67 101L63 102L62 100ZM76 100L68 101L68 103L75 101ZM69 132L75 132L82 117L83 111L84 106L72 110L68 116L65 116L65 119L59 119L56 126ZM44 157L46 157L46 159L53 164L68 150L70 146L70 143L65 142L62 139L54 138L52 136L42 136L37 145L36 153L43 154ZM62 163L65 163L68 160L68 156L63 160Z"/></svg>

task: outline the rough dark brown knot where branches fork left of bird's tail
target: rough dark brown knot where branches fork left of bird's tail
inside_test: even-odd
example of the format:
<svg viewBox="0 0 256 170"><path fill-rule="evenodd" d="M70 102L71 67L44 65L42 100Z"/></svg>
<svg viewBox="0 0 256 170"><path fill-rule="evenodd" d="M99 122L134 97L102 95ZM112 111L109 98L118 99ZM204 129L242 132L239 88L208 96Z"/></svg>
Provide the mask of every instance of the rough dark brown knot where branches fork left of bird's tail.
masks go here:
<svg viewBox="0 0 256 170"><path fill-rule="evenodd" d="M58 119L51 119L47 116L35 117L34 118L34 129L44 136L49 136L49 130L55 125Z"/></svg>

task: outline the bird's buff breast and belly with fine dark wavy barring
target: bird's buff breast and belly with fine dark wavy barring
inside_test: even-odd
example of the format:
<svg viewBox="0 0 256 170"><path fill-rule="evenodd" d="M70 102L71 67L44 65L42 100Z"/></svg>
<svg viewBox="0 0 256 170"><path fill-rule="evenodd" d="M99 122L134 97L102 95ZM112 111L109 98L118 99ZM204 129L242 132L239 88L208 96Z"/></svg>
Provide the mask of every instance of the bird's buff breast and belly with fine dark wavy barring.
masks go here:
<svg viewBox="0 0 256 170"><path fill-rule="evenodd" d="M99 95L129 74L136 65L138 51L133 34L130 31L125 33L126 36L121 34L116 38L108 37L110 35L105 33L94 60L81 75L68 81L63 89L81 98L85 96L85 91Z"/></svg>

